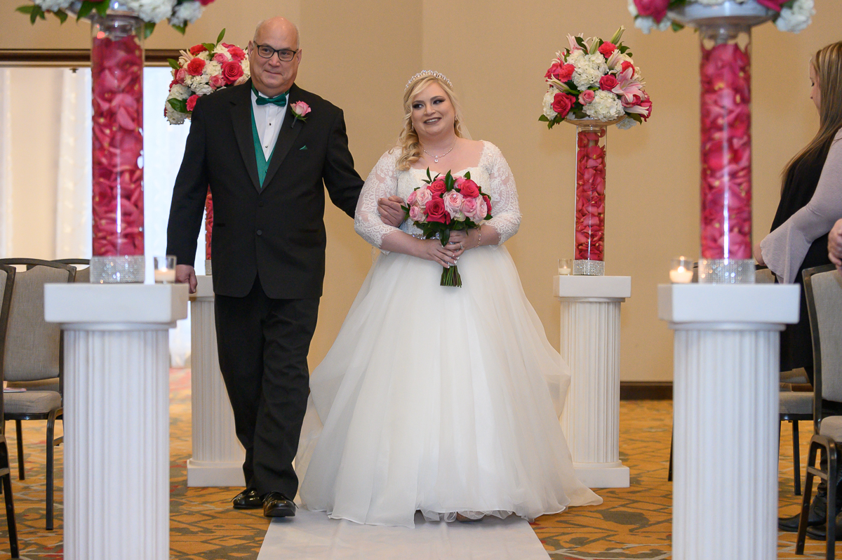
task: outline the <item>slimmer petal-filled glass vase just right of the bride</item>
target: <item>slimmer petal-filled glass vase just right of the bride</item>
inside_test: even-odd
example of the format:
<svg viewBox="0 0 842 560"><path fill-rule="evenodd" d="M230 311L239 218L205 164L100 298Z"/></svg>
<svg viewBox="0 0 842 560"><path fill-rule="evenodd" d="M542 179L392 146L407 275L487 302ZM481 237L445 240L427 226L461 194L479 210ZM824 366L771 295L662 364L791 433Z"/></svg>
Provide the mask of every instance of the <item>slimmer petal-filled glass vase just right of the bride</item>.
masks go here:
<svg viewBox="0 0 842 560"><path fill-rule="evenodd" d="M605 275L605 124L576 126L573 274Z"/></svg>

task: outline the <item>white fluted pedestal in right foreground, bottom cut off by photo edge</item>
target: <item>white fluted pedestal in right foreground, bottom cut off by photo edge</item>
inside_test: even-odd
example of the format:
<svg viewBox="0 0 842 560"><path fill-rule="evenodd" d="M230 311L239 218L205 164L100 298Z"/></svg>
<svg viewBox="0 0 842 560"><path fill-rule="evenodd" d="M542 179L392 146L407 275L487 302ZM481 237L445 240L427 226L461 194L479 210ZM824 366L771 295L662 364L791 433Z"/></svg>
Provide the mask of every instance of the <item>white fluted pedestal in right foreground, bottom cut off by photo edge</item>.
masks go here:
<svg viewBox="0 0 842 560"><path fill-rule="evenodd" d="M658 286L674 329L673 557L777 554L780 331L797 285Z"/></svg>

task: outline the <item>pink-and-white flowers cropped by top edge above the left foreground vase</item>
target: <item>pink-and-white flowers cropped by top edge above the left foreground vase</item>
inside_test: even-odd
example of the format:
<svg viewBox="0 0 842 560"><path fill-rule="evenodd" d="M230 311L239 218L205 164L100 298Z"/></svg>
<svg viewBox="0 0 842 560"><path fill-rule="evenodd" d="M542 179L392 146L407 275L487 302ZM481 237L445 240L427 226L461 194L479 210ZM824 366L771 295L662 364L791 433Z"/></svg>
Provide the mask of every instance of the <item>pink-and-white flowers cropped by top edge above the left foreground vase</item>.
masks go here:
<svg viewBox="0 0 842 560"><path fill-rule="evenodd" d="M214 0L120 0L120 6L137 13L146 22L146 35L152 35L152 30L162 19L167 19L173 28L184 34L188 24L200 18L205 6ZM76 14L79 19L88 18L91 13L99 13L104 17L108 12L112 0L32 0L32 4L20 6L17 11L29 14L29 22L35 24L37 19L46 19L47 13L52 13L63 24L68 14Z"/></svg>

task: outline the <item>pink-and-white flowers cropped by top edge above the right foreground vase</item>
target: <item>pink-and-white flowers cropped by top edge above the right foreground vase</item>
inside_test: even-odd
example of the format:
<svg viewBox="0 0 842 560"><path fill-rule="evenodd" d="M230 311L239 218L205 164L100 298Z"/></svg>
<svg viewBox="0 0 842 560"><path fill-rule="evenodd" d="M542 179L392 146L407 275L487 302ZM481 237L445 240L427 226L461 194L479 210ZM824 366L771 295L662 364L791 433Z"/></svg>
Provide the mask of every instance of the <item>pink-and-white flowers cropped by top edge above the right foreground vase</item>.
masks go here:
<svg viewBox="0 0 842 560"><path fill-rule="evenodd" d="M663 31L670 27L678 31L682 27L676 21L669 18L667 11L670 8L677 8L686 3L700 3L708 6L717 6L731 0L628 0L629 12L634 16L635 27L643 33L658 29ZM733 0L737 3L756 2L765 8L777 13L775 25L781 31L798 33L807 28L813 19L816 10L813 9L813 0Z"/></svg>

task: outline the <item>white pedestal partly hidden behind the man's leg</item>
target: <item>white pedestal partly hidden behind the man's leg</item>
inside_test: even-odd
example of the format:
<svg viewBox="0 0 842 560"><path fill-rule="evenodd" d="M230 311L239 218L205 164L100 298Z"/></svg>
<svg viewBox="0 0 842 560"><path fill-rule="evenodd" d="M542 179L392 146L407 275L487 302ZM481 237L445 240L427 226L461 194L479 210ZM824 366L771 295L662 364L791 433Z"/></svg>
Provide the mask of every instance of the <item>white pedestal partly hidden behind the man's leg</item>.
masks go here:
<svg viewBox="0 0 842 560"><path fill-rule="evenodd" d="M190 296L190 396L193 406L193 456L187 460L187 486L245 486L242 449L234 413L219 371L216 351L213 279L196 276Z"/></svg>

